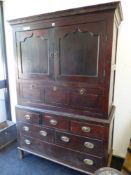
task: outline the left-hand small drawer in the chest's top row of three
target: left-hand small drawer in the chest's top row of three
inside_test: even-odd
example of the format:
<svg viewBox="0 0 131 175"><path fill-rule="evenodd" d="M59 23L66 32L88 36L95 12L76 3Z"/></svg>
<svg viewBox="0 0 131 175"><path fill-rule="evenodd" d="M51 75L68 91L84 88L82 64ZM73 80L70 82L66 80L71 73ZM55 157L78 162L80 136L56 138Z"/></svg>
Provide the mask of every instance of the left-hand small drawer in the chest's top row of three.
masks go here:
<svg viewBox="0 0 131 175"><path fill-rule="evenodd" d="M22 121L26 123L39 124L40 114L36 112L29 112L16 109L16 121Z"/></svg>

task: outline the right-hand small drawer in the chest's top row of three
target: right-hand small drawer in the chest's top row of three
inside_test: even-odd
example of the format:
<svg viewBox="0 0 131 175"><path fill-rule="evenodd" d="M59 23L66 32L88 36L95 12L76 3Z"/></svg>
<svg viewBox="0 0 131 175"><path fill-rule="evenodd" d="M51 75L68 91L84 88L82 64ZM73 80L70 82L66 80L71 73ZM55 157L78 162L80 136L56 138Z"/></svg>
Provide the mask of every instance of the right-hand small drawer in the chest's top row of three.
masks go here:
<svg viewBox="0 0 131 175"><path fill-rule="evenodd" d="M104 127L84 122L71 121L71 132L86 137L103 139Z"/></svg>

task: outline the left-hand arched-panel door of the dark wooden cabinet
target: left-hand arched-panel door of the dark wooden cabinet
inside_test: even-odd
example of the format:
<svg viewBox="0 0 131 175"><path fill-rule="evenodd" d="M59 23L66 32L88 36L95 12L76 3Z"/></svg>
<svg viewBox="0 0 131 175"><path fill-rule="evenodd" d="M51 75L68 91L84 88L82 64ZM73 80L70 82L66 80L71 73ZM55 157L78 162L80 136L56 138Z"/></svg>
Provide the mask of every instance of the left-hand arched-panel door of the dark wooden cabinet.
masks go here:
<svg viewBox="0 0 131 175"><path fill-rule="evenodd" d="M53 76L51 30L16 33L18 78L49 79Z"/></svg>

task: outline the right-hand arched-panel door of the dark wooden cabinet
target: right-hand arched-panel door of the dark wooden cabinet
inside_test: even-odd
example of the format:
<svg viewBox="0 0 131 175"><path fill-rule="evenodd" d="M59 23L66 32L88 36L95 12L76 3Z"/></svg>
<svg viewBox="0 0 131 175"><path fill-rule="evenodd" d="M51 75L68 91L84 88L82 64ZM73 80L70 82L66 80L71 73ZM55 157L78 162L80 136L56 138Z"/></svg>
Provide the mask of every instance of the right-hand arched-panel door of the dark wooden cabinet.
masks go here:
<svg viewBox="0 0 131 175"><path fill-rule="evenodd" d="M55 29L55 78L64 81L102 82L106 27L104 21Z"/></svg>

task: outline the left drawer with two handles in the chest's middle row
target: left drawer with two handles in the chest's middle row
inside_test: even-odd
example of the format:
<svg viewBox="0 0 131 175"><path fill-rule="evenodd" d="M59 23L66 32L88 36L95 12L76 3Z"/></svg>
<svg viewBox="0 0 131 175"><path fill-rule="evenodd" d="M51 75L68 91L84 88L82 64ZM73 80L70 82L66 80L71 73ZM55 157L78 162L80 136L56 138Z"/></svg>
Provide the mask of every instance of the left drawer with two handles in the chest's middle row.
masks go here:
<svg viewBox="0 0 131 175"><path fill-rule="evenodd" d="M54 130L37 125L30 125L28 123L17 123L17 129L20 135L26 135L38 138L47 142L54 142Z"/></svg>

